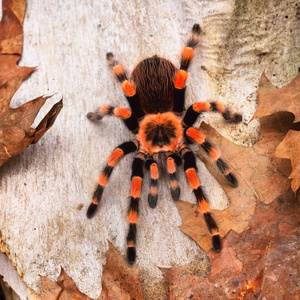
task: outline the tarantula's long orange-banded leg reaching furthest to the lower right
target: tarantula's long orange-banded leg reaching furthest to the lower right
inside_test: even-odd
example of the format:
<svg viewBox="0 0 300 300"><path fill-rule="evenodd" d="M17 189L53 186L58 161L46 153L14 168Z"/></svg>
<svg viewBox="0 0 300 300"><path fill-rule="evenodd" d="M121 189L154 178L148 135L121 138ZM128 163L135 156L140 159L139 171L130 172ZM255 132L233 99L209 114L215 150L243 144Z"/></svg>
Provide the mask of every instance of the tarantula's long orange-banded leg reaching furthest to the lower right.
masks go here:
<svg viewBox="0 0 300 300"><path fill-rule="evenodd" d="M180 152L184 161L186 178L197 200L198 212L203 215L208 231L212 235L212 246L214 251L219 252L222 249L222 240L219 235L218 225L210 212L210 206L197 176L195 155L188 147L184 147Z"/></svg>

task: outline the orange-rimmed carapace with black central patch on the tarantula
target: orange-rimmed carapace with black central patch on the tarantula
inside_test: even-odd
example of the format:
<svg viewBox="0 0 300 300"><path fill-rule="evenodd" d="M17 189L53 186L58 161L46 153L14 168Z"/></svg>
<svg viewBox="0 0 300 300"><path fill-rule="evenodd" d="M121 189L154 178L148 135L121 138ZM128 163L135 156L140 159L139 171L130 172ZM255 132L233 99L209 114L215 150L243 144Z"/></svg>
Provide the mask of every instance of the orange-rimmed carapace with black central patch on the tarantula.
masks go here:
<svg viewBox="0 0 300 300"><path fill-rule="evenodd" d="M174 152L183 139L181 119L173 112L149 114L140 123L137 139L148 154Z"/></svg>

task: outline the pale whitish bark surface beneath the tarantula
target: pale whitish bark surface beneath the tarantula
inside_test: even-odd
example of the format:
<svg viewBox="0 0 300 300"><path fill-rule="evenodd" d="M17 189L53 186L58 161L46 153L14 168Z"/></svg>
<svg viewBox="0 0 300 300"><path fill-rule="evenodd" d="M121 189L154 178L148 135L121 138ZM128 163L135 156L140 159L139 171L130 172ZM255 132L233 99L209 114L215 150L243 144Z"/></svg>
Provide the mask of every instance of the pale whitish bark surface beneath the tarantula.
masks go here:
<svg viewBox="0 0 300 300"><path fill-rule="evenodd" d="M128 155L116 167L99 212L88 220L86 209L106 158L133 138L120 120L105 118L95 125L85 117L102 104L127 106L105 54L114 52L129 71L154 54L178 65L186 33L196 22L203 30L202 42L188 79L186 106L218 99L242 112L248 123L263 71L277 86L296 76L300 30L294 0L29 1L20 64L38 68L11 105L58 93L37 124L64 98L51 130L0 169L2 242L29 288L38 292L39 275L56 280L63 267L80 291L92 298L100 295L107 240L121 253L126 250L133 158ZM205 120L239 144L249 146L257 139L258 121L246 126L228 125L216 115ZM199 169L212 206L224 209L226 195L202 163ZM182 175L181 199L194 202ZM155 210L147 203L147 176L144 182L137 264L147 290L162 278L158 267L197 259L199 269L205 269L207 256L178 229L181 219L167 182L160 184Z"/></svg>

